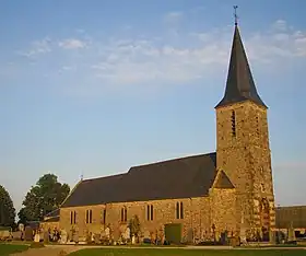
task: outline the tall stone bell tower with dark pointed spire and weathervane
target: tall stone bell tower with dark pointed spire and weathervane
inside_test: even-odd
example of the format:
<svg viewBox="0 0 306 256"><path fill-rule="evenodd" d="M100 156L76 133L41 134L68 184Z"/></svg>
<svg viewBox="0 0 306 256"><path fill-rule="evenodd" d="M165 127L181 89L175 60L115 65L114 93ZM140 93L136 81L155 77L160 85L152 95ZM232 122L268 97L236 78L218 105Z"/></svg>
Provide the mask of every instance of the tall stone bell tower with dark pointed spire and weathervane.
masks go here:
<svg viewBox="0 0 306 256"><path fill-rule="evenodd" d="M236 188L236 230L249 240L269 240L275 222L267 109L257 92L235 14L225 93L215 106L216 167Z"/></svg>

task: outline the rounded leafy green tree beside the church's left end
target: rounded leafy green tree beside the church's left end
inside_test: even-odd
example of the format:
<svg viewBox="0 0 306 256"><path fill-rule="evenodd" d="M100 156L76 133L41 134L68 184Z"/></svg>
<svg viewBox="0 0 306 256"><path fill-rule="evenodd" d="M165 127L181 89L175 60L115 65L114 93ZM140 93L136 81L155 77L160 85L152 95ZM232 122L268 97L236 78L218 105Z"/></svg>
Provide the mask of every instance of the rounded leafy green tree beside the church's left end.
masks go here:
<svg viewBox="0 0 306 256"><path fill-rule="evenodd" d="M56 175L45 174L26 194L19 212L20 222L43 220L44 216L59 208L69 191L69 185L59 183Z"/></svg>

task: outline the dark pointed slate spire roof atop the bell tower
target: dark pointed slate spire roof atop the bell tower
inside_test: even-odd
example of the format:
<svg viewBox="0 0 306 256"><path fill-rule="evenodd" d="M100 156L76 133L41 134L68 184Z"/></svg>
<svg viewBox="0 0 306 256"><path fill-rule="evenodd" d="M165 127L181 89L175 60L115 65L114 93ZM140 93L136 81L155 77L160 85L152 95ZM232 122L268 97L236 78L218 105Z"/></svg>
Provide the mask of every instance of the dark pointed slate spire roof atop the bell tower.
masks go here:
<svg viewBox="0 0 306 256"><path fill-rule="evenodd" d="M215 108L247 100L267 108L257 93L240 33L235 25L226 89Z"/></svg>

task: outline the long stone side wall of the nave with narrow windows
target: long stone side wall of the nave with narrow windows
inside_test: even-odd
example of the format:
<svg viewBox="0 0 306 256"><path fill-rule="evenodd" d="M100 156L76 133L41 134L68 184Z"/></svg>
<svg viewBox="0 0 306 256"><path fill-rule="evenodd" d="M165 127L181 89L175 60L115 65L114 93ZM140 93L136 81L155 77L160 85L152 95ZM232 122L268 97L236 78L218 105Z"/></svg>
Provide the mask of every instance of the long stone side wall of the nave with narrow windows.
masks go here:
<svg viewBox="0 0 306 256"><path fill-rule="evenodd" d="M184 219L176 219L176 203L183 202ZM153 206L153 220L146 218L148 205ZM60 228L70 231L72 226L78 228L80 236L84 236L86 231L99 233L105 226L103 223L103 210L106 209L106 225L109 224L114 231L123 231L127 222L121 222L121 209L127 208L127 220L136 214L140 219L141 230L148 237L150 232L164 229L167 223L183 223L183 236L187 240L190 230L195 237L200 238L211 231L210 224L210 198L184 198L154 201L118 202L101 206L72 207L60 209ZM92 223L85 223L86 210L92 210ZM76 224L70 224L70 212L76 212Z"/></svg>

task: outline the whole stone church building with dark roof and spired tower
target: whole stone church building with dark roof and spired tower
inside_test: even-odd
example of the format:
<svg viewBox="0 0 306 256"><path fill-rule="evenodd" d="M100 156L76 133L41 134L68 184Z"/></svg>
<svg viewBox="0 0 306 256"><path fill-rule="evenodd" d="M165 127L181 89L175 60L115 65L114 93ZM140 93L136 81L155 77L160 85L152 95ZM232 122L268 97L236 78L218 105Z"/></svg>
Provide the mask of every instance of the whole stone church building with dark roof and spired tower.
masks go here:
<svg viewBox="0 0 306 256"><path fill-rule="evenodd" d="M60 229L122 230L138 216L143 233L181 224L193 240L227 231L269 240L275 226L267 105L235 24L226 88L215 106L216 152L131 167L81 181L60 208Z"/></svg>

